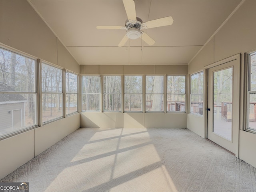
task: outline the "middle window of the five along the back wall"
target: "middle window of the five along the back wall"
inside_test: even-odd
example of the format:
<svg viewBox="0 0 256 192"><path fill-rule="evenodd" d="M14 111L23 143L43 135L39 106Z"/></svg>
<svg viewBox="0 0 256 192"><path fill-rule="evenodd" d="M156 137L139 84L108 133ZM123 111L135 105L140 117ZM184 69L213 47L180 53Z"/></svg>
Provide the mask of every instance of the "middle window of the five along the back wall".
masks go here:
<svg viewBox="0 0 256 192"><path fill-rule="evenodd" d="M142 111L142 76L124 76L124 111Z"/></svg>

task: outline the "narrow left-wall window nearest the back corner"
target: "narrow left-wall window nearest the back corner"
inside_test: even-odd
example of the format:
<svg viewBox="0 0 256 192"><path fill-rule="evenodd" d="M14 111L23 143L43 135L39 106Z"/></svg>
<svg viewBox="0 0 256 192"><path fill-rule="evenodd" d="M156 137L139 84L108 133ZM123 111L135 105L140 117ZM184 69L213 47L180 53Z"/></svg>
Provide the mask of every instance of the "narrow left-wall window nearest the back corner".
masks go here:
<svg viewBox="0 0 256 192"><path fill-rule="evenodd" d="M77 112L77 79L76 74L66 71L66 114Z"/></svg>

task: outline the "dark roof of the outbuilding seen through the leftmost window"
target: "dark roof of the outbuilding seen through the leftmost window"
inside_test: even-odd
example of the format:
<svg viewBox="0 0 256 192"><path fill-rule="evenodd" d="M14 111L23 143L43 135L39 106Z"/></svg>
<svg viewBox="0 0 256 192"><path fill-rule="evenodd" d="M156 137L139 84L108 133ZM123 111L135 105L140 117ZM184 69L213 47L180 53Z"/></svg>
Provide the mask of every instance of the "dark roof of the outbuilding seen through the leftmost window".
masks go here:
<svg viewBox="0 0 256 192"><path fill-rule="evenodd" d="M6 84L3 84L3 83L0 83L0 93L4 91L4 92L14 92L15 90L6 85ZM25 102L26 101L26 98L24 98L21 94L11 94L11 93L8 93L8 94L0 94L0 103L3 103L3 102L18 102L18 101L23 101Z"/></svg>

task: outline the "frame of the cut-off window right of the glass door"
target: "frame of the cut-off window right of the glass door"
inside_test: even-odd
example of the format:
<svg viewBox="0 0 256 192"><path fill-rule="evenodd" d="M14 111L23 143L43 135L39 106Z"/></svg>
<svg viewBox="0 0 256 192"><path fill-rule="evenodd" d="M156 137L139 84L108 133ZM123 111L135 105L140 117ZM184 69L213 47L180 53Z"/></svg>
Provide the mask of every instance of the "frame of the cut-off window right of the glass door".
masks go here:
<svg viewBox="0 0 256 192"><path fill-rule="evenodd" d="M256 134L256 128L250 126L250 94L256 94L256 90L251 90L251 56L256 55L256 50L246 53L246 67L247 67L247 86L245 92L246 98L246 126L244 130Z"/></svg>

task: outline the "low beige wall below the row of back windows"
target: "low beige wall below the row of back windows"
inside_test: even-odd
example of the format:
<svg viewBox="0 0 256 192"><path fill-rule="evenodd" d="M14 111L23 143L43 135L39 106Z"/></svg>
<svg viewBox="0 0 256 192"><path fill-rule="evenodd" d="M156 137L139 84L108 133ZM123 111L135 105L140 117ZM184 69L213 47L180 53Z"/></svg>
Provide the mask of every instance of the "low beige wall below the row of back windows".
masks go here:
<svg viewBox="0 0 256 192"><path fill-rule="evenodd" d="M186 113L82 112L81 127L187 128Z"/></svg>

